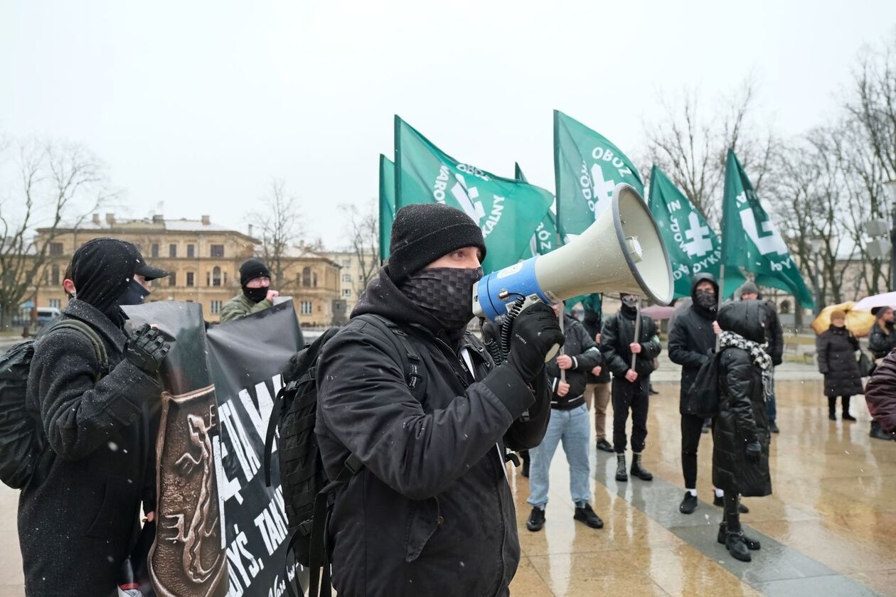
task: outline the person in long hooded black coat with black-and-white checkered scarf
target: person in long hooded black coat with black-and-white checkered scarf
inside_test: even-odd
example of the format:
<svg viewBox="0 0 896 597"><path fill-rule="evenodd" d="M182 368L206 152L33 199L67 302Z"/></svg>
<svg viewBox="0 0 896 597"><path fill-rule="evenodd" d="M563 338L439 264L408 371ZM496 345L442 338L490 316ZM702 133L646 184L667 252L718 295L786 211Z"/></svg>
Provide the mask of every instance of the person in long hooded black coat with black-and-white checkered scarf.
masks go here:
<svg viewBox="0 0 896 597"><path fill-rule="evenodd" d="M771 391L771 356L765 350L766 307L760 301L728 303L719 310L719 414L713 424L712 483L725 491L719 543L750 561L760 544L744 535L739 496L771 495L769 427L765 397Z"/></svg>

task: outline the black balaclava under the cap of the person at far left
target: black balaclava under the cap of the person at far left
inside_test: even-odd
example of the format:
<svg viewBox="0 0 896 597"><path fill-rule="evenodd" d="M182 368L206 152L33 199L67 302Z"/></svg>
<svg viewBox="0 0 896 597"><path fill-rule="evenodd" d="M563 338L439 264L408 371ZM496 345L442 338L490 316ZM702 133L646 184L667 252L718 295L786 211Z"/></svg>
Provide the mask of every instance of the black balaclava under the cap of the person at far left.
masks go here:
<svg viewBox="0 0 896 597"><path fill-rule="evenodd" d="M140 286L134 272L142 262L140 252L131 243L114 238L97 238L84 243L72 258L72 281L78 299L102 311L117 326L124 325L122 304L133 303ZM142 295L149 294L142 286ZM123 302L125 301L125 302Z"/></svg>

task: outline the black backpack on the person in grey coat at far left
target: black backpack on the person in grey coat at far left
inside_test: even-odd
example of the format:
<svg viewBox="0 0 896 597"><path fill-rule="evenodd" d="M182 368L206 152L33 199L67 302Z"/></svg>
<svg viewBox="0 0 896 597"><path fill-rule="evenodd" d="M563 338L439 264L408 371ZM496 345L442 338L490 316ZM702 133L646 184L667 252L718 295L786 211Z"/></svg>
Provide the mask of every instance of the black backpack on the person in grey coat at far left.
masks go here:
<svg viewBox="0 0 896 597"><path fill-rule="evenodd" d="M34 346L62 328L77 329L90 338L99 361L97 381L108 372L106 345L93 328L80 320L58 320L43 337L20 342L0 356L0 481L14 490L28 484L43 449L43 432L25 410Z"/></svg>

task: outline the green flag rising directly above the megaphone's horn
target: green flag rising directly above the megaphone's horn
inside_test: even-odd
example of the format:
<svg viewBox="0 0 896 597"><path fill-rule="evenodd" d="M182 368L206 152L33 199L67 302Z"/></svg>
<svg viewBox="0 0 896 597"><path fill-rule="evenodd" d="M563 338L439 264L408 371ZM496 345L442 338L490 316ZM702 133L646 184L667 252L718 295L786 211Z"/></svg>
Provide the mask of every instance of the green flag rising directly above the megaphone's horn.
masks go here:
<svg viewBox="0 0 896 597"><path fill-rule="evenodd" d="M554 176L557 228L581 235L609 206L613 189L628 183L644 194L632 160L616 145L564 113L554 111Z"/></svg>

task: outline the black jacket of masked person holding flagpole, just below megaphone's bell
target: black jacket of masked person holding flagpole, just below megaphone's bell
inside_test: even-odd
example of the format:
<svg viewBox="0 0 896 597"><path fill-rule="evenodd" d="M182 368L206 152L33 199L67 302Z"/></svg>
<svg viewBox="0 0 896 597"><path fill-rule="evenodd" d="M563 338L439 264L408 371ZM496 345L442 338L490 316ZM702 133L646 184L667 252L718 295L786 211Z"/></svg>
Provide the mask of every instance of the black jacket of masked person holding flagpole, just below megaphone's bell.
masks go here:
<svg viewBox="0 0 896 597"><path fill-rule="evenodd" d="M623 307L604 321L604 327L600 331L600 352L604 354L607 367L616 378L625 378L625 373L632 368L632 350L629 345L634 341L634 318L635 314ZM653 372L653 360L663 349L659 344L657 324L647 315L641 316L641 336L638 342L641 344L641 354L638 354L634 371L639 378L644 378Z"/></svg>

